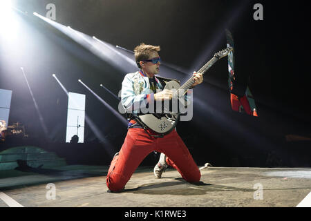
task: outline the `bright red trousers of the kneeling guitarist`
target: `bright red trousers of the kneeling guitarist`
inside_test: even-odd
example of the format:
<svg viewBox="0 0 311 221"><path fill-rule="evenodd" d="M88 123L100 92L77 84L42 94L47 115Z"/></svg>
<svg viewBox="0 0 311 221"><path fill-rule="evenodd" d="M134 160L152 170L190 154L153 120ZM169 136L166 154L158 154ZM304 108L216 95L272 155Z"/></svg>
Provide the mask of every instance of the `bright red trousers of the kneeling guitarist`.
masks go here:
<svg viewBox="0 0 311 221"><path fill-rule="evenodd" d="M150 137L142 128L130 128L119 155L113 157L109 167L106 178L108 188L111 191L122 190L142 160L152 151L167 155L167 164L173 166L187 182L200 181L200 170L176 130L159 138Z"/></svg>

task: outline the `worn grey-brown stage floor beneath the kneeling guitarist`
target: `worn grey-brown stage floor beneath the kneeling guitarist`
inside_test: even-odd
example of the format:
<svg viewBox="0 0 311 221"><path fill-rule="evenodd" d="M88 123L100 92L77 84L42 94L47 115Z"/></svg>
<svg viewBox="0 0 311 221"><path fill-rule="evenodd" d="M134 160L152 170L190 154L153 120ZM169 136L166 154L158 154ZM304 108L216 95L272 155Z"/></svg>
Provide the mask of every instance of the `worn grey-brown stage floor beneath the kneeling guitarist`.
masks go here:
<svg viewBox="0 0 311 221"><path fill-rule="evenodd" d="M200 183L189 184L173 169L157 179L153 168L139 167L121 193L108 191L107 170L73 165L0 171L0 206L295 207L311 195L311 169L209 167L201 170Z"/></svg>

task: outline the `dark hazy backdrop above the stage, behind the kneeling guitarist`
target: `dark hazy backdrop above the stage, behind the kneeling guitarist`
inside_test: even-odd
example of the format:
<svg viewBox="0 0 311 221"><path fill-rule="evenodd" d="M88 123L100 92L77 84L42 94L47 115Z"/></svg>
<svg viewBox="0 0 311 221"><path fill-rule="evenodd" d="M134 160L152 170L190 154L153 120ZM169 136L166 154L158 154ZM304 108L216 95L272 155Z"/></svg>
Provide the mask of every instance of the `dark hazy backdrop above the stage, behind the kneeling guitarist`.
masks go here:
<svg viewBox="0 0 311 221"><path fill-rule="evenodd" d="M119 151L127 131L77 79L83 79L117 110L119 101L99 84L117 95L124 75L135 70L124 73L32 15L37 12L45 16L46 4L55 3L57 23L113 46L133 50L141 42L160 45L163 63L183 70L161 68L160 75L182 82L215 52L225 48L227 28L235 41L236 75L250 77L249 88L259 117L232 111L227 59L220 59L194 90L193 119L180 122L177 127L194 160L215 166L310 166L310 13L304 1L13 2L28 15L15 12L19 19L18 36L10 44L1 42L0 88L13 91L9 125L24 124L28 141L40 140L42 148L56 151L71 159L70 162L109 164L108 153ZM255 3L263 4L263 21L253 19ZM117 62L120 66L126 63L122 59ZM21 66L48 135L42 129ZM97 133L113 144L109 150L88 124L85 144L66 147L68 97L52 73L56 73L68 91L86 94L86 114ZM290 140L288 135L302 138ZM154 153L149 157L151 164L157 160Z"/></svg>

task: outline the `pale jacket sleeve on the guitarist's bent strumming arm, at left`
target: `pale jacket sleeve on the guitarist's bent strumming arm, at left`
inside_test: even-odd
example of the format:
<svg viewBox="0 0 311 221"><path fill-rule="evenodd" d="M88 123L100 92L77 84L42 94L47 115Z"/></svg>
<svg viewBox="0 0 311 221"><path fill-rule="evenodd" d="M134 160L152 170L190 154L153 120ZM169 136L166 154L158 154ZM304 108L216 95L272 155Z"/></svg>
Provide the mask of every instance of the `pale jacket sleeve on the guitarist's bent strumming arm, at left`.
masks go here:
<svg viewBox="0 0 311 221"><path fill-rule="evenodd" d="M149 103L154 102L154 95L140 94L135 95L133 81L129 76L125 76L122 81L121 102L126 113L145 113Z"/></svg>

